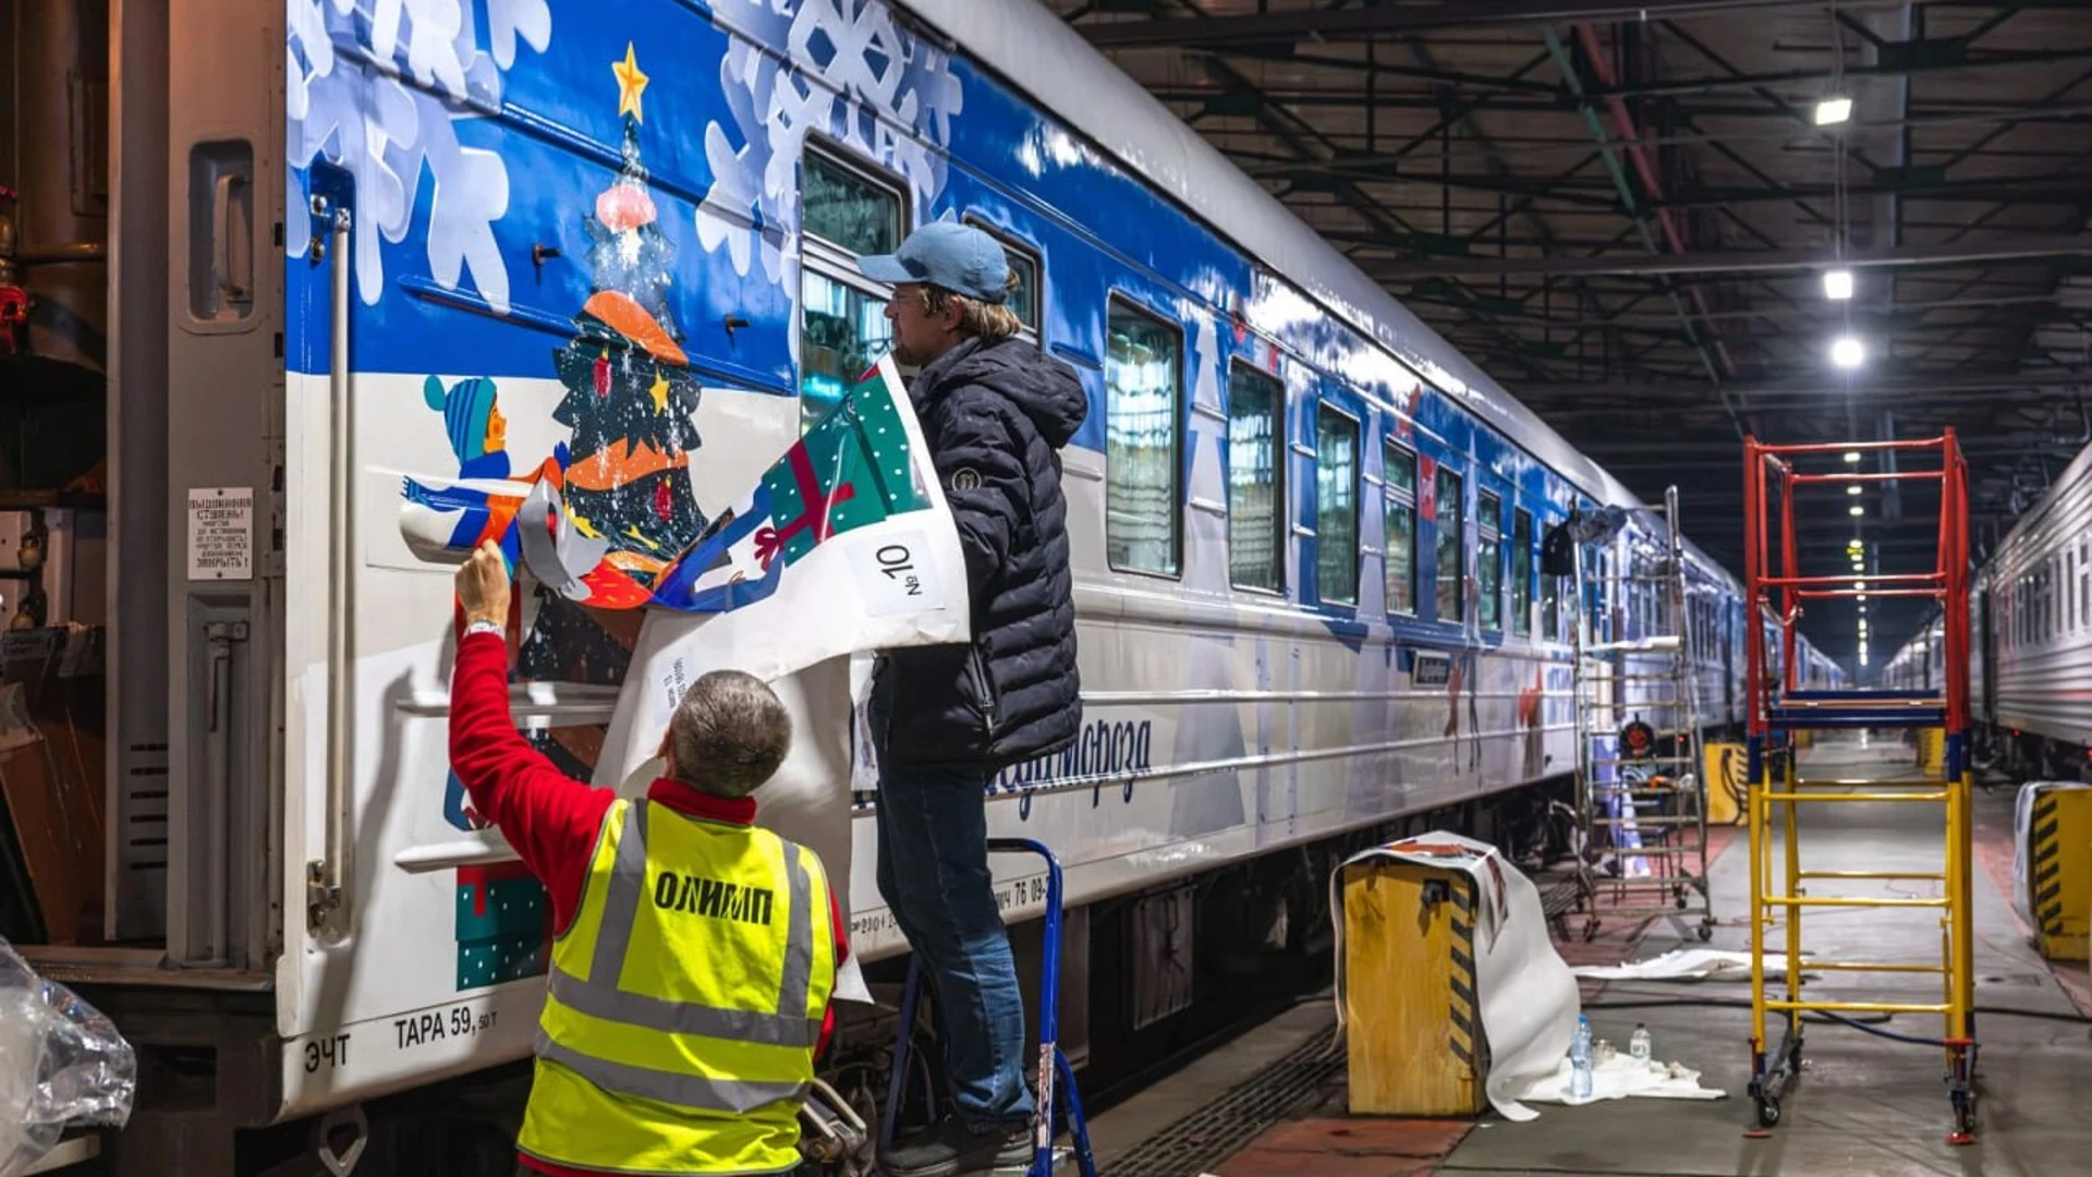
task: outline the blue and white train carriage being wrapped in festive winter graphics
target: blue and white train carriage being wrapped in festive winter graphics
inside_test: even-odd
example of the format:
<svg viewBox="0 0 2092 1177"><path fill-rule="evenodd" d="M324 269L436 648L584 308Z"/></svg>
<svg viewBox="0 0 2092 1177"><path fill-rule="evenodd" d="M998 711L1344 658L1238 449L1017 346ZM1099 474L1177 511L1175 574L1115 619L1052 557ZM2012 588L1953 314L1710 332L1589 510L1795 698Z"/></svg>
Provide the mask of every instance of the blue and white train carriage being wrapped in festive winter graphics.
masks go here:
<svg viewBox="0 0 2092 1177"><path fill-rule="evenodd" d="M1659 624L1655 593L1538 572L1571 509L1625 507L1590 557L1644 559L1619 482L1029 0L157 21L121 38L165 92L111 75L113 258L155 274L159 232L144 293L174 295L155 327L119 291L111 341L115 484L149 488L109 561L111 890L92 947L31 947L186 1108L136 1116L119 1160L232 1173L234 1129L397 1093L454 1127L423 1089L529 1053L548 911L450 779L452 591L402 501L571 463L590 528L657 565L887 348L854 258L916 224L1000 237L1025 333L1090 396L1065 450L1084 733L1004 771L990 827L1067 867L1063 1045L1094 1072L1238 1018L1272 961L1316 972L1349 848L1429 815L1517 842L1575 767L1571 626ZM1753 622L1686 559L1701 720L1732 729ZM517 716L588 777L636 622L527 607ZM874 804L849 926L891 972ZM998 888L1040 911L1036 873ZM862 1097L877 1035L845 1039Z"/></svg>

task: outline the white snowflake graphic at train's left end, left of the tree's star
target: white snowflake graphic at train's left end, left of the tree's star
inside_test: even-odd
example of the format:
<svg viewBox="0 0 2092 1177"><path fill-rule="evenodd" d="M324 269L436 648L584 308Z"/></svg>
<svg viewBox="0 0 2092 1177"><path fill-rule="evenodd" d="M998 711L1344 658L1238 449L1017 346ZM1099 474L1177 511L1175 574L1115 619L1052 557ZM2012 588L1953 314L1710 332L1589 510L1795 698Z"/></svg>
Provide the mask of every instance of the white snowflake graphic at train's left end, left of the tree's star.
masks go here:
<svg viewBox="0 0 2092 1177"><path fill-rule="evenodd" d="M508 268L494 241L494 222L508 212L508 165L460 145L454 124L500 109L519 40L538 52L552 44L546 0L291 0L291 168L301 191L316 161L356 178L360 228L379 230L356 235L356 291L366 306L385 289L381 237L406 239L427 172L431 276L456 289L471 272L487 306L508 310ZM310 232L305 218L287 218L285 247L301 253Z"/></svg>

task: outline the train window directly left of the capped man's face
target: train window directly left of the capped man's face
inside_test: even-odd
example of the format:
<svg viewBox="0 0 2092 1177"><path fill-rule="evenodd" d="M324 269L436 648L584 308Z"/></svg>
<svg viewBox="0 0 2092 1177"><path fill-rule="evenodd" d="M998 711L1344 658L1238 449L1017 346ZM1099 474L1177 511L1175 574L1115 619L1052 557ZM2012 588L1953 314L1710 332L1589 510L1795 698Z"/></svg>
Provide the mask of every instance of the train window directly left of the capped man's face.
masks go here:
<svg viewBox="0 0 2092 1177"><path fill-rule="evenodd" d="M858 373L893 343L887 291L858 274L862 253L902 243L897 186L808 151L799 161L803 264L799 268L799 427L820 421Z"/></svg>

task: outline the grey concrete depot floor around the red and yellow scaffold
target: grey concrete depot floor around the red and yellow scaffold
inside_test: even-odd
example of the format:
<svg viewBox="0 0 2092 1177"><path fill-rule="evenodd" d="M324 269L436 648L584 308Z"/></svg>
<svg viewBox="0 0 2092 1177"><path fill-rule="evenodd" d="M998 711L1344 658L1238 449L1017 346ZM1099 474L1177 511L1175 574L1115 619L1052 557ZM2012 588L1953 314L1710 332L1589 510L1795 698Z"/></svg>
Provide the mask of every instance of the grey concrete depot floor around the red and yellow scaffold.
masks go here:
<svg viewBox="0 0 2092 1177"><path fill-rule="evenodd" d="M1807 777L1910 775L1891 750L1830 746L1803 762ZM1979 842L1996 861L2008 854L2010 790L1977 798ZM1920 804L1820 804L1803 810L1803 865L1818 869L1939 869L1941 813ZM1776 850L1778 854L1778 850ZM1778 861L1778 859L1776 859ZM2008 859L2006 859L2008 861ZM1745 949L1741 926L1749 896L1749 854L1724 854L1711 886L1722 928L1715 947ZM1816 884L1816 894L1937 894L1937 884ZM1891 890L1895 888L1895 890ZM2048 965L2027 945L1998 880L1975 880L1977 1005L2075 1016ZM1939 955L1937 911L1824 909L1803 919L1803 949L1826 959L1929 961ZM1642 957L1676 947L1663 930ZM1826 974L1812 997L1937 1001L1937 978ZM1625 1043L1646 1022L1661 1058L1701 1068L1701 1083L1728 1100L1690 1104L1617 1100L1588 1108L1544 1108L1538 1120L1490 1120L1469 1133L1439 1173L1546 1175L1824 1175L1904 1177L1933 1173L2065 1175L2092 1173L2092 1026L2084 1022L1989 1016L1979 1020L1983 1093L1979 1139L1948 1146L1950 1108L1939 1051L1893 1043L1845 1026L1810 1026L1805 1070L1782 1102L1770 1139L1745 1139L1749 1009L1607 1009L1607 1001L1665 997L1749 999L1747 984L1611 984L1590 1009L1598 1037ZM1889 1026L1939 1035L1937 1018L1897 1016ZM1776 1035L1774 1035L1776 1037Z"/></svg>

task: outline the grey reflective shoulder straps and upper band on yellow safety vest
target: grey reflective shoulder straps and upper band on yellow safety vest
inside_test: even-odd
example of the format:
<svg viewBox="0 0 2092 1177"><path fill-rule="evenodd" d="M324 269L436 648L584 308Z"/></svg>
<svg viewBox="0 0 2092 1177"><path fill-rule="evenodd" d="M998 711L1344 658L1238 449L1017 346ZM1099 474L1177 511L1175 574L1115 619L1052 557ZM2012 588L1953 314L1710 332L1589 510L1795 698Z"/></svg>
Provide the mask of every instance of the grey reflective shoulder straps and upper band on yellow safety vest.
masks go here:
<svg viewBox="0 0 2092 1177"><path fill-rule="evenodd" d="M692 1001L665 1001L644 993L617 989L617 974L632 947L632 924L646 901L646 806L626 806L626 831L617 840L617 861L611 865L611 890L602 896L602 930L590 955L588 976L552 968L552 999L577 1014L605 1022L623 1022L665 1035L705 1035L776 1047L812 1047L820 1041L820 1018L803 1014L808 989L814 984L814 880L805 871L803 850L784 842L784 873L791 878L791 924L784 940L784 984L778 986L778 1012L720 1009ZM791 1012L799 1009L799 1016ZM575 1068L582 1070L582 1068ZM609 1085L605 1085L609 1087ZM638 1091L634 1091L638 1095ZM649 1095L659 1097L659 1095ZM692 1104L672 1100L692 1108ZM730 1108L745 1110L745 1108Z"/></svg>

